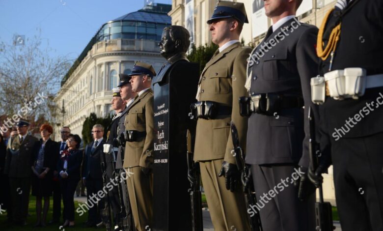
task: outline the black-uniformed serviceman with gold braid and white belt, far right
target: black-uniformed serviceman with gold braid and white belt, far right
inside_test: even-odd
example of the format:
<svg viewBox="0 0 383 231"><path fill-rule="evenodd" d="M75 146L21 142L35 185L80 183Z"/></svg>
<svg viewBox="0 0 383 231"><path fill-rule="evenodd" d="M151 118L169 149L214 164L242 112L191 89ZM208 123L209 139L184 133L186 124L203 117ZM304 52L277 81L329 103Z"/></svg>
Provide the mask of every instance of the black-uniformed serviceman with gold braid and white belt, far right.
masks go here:
<svg viewBox="0 0 383 231"><path fill-rule="evenodd" d="M318 34L322 161L309 177L319 185L332 158L342 231L383 230L382 12L382 0L338 0Z"/></svg>

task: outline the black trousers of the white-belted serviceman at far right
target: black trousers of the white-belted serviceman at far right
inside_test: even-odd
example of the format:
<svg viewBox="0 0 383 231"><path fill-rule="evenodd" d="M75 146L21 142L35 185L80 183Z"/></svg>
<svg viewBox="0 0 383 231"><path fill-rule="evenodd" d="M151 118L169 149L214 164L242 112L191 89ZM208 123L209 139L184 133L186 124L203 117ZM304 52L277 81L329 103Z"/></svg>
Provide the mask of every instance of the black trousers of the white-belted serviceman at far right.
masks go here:
<svg viewBox="0 0 383 231"><path fill-rule="evenodd" d="M342 231L383 231L383 133L331 142Z"/></svg>

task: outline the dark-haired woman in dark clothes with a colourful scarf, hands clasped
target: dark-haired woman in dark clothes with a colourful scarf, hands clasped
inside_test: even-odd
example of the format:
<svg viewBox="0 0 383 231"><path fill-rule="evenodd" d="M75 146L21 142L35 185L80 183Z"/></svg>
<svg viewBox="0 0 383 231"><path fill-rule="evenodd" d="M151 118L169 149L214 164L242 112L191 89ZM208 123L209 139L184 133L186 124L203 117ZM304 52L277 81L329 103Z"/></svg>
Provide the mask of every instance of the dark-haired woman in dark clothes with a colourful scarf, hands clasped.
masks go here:
<svg viewBox="0 0 383 231"><path fill-rule="evenodd" d="M80 181L80 168L82 163L82 151L78 150L81 139L78 135L70 134L66 140L68 149L62 152L57 163L62 201L64 203L63 227L75 225L75 203L73 200L77 183Z"/></svg>

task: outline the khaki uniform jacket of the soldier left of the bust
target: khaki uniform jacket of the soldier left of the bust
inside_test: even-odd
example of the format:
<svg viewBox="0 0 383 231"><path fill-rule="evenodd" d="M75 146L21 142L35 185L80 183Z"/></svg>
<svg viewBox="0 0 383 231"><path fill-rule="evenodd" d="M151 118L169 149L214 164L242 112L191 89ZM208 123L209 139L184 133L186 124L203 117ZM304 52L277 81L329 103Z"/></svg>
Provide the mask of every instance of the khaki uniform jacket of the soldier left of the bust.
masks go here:
<svg viewBox="0 0 383 231"><path fill-rule="evenodd" d="M150 168L153 160L154 112L153 90L147 89L138 96L129 108L125 117L125 130L145 132L146 137L136 142L126 142L124 168L141 166Z"/></svg>

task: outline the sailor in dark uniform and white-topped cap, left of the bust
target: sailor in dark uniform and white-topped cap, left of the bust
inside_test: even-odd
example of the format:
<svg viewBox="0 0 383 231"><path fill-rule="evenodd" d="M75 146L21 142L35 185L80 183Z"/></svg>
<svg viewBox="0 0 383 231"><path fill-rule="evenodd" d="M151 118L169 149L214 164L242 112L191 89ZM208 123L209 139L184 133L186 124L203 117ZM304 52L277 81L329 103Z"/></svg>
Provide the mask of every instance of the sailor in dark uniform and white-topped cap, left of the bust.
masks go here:
<svg viewBox="0 0 383 231"><path fill-rule="evenodd" d="M116 164L116 155L118 152L118 144L117 144L117 127L119 118L122 115L123 110L126 108L126 101L121 99L120 88L113 88L113 96L111 101L111 108L115 111L116 115L112 118L112 123L107 128L107 141L106 144L111 145L109 153L105 153L105 162L106 162L106 179L107 182L104 182L104 185L110 182L110 179L118 176L118 173L115 170ZM104 144L104 146L106 145ZM104 148L105 151L105 148ZM103 158L102 158L103 159ZM117 178L117 182L119 179ZM120 194L119 194L119 186L113 187L112 190L108 192L108 202L113 211L113 219L115 226L118 226L118 230L123 229L122 219L125 217L123 207L124 203L120 202Z"/></svg>

